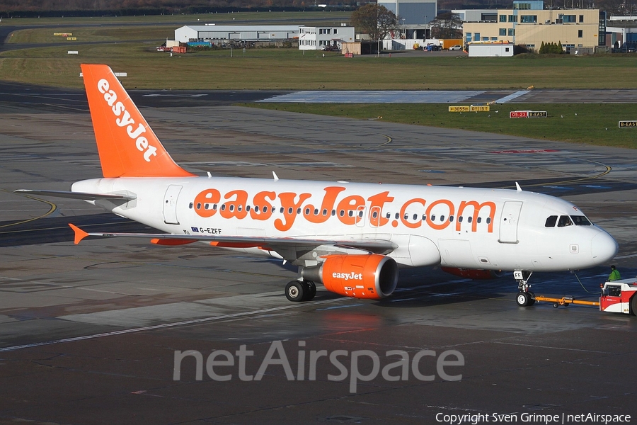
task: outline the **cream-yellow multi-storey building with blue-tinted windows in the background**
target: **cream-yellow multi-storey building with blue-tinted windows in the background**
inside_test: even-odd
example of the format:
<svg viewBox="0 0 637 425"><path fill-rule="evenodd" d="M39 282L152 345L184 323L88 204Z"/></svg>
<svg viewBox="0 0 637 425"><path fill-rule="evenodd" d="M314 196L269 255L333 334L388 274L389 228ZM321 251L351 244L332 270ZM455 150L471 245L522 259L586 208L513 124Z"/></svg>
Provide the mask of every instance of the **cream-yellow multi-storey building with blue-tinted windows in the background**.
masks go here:
<svg viewBox="0 0 637 425"><path fill-rule="evenodd" d="M541 0L515 0L498 9L495 21L463 25L464 42L510 42L538 51L542 42L561 42L567 52L593 52L605 44L605 13L599 9L544 9Z"/></svg>

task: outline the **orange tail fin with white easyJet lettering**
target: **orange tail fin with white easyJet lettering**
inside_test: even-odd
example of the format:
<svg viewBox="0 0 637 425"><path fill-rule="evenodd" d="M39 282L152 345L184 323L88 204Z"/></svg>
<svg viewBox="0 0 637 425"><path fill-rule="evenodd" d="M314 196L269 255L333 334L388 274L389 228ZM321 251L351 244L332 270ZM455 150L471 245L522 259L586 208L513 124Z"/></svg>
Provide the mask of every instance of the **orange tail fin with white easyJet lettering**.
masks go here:
<svg viewBox="0 0 637 425"><path fill-rule="evenodd" d="M104 177L194 175L173 161L110 67L81 67Z"/></svg>

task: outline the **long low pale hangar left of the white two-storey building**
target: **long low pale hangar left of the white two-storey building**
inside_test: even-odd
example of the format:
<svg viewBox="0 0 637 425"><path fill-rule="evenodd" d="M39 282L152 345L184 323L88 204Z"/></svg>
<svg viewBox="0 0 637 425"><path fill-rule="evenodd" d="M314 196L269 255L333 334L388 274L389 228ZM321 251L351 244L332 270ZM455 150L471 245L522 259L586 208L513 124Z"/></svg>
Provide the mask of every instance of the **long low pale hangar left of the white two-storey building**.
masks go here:
<svg viewBox="0 0 637 425"><path fill-rule="evenodd" d="M197 25L175 30L177 42L282 41L299 38L298 25Z"/></svg>

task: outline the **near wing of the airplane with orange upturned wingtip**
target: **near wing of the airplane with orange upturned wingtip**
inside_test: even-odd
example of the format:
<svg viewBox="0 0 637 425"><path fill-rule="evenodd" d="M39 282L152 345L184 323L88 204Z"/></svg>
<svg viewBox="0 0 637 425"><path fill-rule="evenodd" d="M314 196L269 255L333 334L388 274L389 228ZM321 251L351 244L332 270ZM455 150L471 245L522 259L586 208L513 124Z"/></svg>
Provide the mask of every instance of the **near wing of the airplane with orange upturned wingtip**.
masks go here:
<svg viewBox="0 0 637 425"><path fill-rule="evenodd" d="M96 237L141 237L151 239L151 243L158 245L184 245L197 241L210 242L219 248L259 248L275 251L283 259L294 261L297 251L311 251L317 246L334 246L340 248L360 249L377 254L389 254L398 248L394 242L385 239L306 239L280 237L248 237L223 236L221 234L170 234L170 233L107 233L85 232L76 225L69 223L75 232L74 242L79 242L88 236Z"/></svg>

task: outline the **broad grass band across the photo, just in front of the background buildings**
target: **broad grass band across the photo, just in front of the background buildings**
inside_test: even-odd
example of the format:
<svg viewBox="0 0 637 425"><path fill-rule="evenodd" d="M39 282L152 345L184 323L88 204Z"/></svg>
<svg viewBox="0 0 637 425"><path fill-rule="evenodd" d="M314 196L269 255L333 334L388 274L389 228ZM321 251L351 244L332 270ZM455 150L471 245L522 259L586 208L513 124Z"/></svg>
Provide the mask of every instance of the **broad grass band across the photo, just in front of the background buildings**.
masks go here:
<svg viewBox="0 0 637 425"><path fill-rule="evenodd" d="M52 33L52 32L51 32ZM102 35L105 36L105 35ZM113 33L108 33L109 37ZM173 55L156 52L155 41L108 45L71 44L0 54L0 74L7 81L81 86L67 79L81 62L106 63L128 72L123 82L139 89L229 90L442 90L442 89L634 89L637 55L586 57L345 58L335 52L297 49L234 49ZM79 55L67 55L67 50ZM149 69L158 72L148 72ZM49 74L46 77L46 74ZM44 78L44 79L42 79Z"/></svg>

